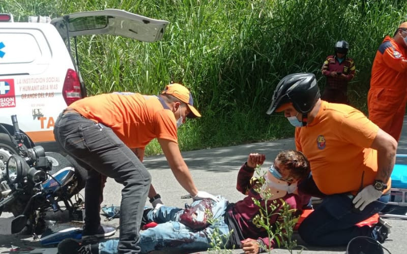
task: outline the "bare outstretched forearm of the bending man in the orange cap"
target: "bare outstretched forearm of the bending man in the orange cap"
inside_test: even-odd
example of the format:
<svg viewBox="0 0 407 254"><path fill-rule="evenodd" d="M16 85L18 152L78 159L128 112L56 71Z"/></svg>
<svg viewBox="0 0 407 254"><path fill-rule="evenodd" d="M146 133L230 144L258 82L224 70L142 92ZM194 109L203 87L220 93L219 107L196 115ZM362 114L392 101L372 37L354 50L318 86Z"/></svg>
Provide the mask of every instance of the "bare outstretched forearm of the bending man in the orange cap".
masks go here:
<svg viewBox="0 0 407 254"><path fill-rule="evenodd" d="M158 139L158 143L160 143L162 151L167 158L168 165L177 181L192 197L196 196L198 190L184 162L178 144L167 139Z"/></svg>

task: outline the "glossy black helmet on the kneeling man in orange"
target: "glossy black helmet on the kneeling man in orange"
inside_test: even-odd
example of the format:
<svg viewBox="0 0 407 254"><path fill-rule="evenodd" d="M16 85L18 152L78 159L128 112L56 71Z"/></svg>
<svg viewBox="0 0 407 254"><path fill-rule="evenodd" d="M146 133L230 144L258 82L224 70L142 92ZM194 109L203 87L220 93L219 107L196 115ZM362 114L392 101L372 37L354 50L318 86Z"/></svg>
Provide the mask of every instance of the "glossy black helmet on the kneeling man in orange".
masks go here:
<svg viewBox="0 0 407 254"><path fill-rule="evenodd" d="M285 103L293 103L294 108L306 114L312 110L319 99L319 87L312 73L294 73L282 78L277 84L267 114L272 114Z"/></svg>

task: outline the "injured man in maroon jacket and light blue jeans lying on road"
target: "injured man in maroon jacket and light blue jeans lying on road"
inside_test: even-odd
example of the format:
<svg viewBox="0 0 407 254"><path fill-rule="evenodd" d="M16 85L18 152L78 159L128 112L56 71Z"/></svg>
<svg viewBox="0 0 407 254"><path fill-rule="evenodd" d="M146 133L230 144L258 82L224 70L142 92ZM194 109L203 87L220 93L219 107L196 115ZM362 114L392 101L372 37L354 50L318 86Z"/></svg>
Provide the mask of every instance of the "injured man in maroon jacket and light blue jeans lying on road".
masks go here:
<svg viewBox="0 0 407 254"><path fill-rule="evenodd" d="M277 155L264 180L252 178L256 166L262 165L264 161L264 154L249 154L237 179L237 189L247 196L237 203L228 203L219 196L219 202L209 199L195 201L186 209L161 206L146 210L143 217L147 223L154 221L158 225L140 233L141 253L153 250L177 253L206 250L211 247L211 243L216 244L213 242L215 233L223 241L221 247L240 246L245 253L258 253L264 250L263 247L276 247L274 239L268 238L268 232L253 222L260 213L260 207L253 199L260 202L261 209L268 206L270 213L273 213L269 222L274 228L277 219L282 219L278 214L282 202L286 202L290 208L297 208L297 213L301 213L300 209L305 202L297 193L297 182L307 177L310 169L308 160L301 152L286 150ZM270 210L271 204L277 207L276 210ZM207 217L212 217L212 224ZM83 246L78 240L65 239L58 245L58 253L115 254L118 253L117 245L118 240L115 239Z"/></svg>

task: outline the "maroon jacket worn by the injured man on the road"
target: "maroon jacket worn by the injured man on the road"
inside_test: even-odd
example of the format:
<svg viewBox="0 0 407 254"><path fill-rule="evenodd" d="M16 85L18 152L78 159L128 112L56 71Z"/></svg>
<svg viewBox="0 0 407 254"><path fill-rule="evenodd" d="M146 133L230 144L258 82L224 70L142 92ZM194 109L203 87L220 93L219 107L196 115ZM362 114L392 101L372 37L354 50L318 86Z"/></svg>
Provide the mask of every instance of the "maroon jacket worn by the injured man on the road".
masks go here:
<svg viewBox="0 0 407 254"><path fill-rule="evenodd" d="M242 235L239 240L244 240L246 238L252 238L252 239L260 239L265 243L265 245L270 248L275 246L274 240L269 241L267 231L264 228L257 228L255 224L253 223L253 218L259 214L260 208L254 204L252 198L259 200L261 206L264 208L265 207L265 200L263 200L260 195L256 192L255 188L256 186L256 181L251 181L251 178L253 176L254 169L250 168L245 164L242 165L239 174L238 174L238 181L237 181L237 186L236 188L239 190L239 192L243 193L244 195L247 195L243 200L238 201L237 203L231 205L227 209L227 215L228 217L233 217L235 221L235 226L238 226ZM281 198L284 200L286 203L289 204L290 207L292 208L297 208L301 209L302 204L304 201L301 200L301 198L298 195L295 194L287 194L284 197ZM275 206L277 206L277 210L281 207L281 201L280 199L276 200ZM268 201L267 205L270 207L270 204L273 201ZM270 208L268 208L270 210ZM277 212L277 211L274 211ZM301 211L298 210L298 213L301 214ZM298 215L299 215L298 214ZM270 217L270 225L274 225L276 223L276 220L278 218L278 215L272 215ZM230 221L230 220L229 220Z"/></svg>

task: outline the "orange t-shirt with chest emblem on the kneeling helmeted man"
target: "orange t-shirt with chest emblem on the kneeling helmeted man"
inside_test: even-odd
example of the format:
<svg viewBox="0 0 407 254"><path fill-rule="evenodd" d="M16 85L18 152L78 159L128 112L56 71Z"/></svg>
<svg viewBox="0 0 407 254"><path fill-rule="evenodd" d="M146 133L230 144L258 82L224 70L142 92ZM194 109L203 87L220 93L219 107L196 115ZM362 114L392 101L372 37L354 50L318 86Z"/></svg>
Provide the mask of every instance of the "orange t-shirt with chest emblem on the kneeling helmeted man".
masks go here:
<svg viewBox="0 0 407 254"><path fill-rule="evenodd" d="M377 131L379 127L359 110L325 101L310 124L296 128L296 147L307 156L312 177L321 192L355 195L363 171L363 187L373 183L377 151L368 147Z"/></svg>

